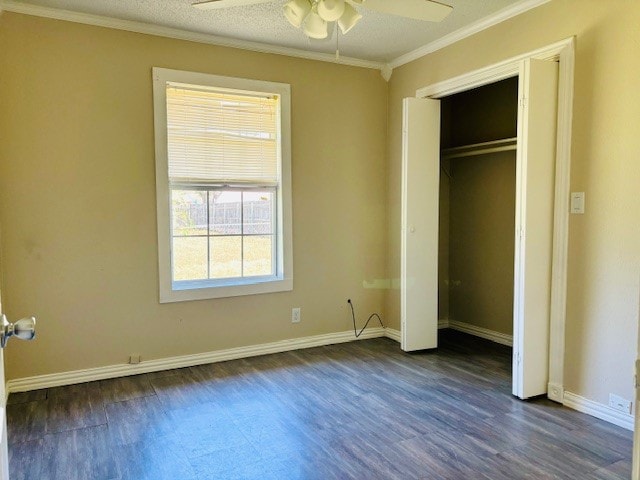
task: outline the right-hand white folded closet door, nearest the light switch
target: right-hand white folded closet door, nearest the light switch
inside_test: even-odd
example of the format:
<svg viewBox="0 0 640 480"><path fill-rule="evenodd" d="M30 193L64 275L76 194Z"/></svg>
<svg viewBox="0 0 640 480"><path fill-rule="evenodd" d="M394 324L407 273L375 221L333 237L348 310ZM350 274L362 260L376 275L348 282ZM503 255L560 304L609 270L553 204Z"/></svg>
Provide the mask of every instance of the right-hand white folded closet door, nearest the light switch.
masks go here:
<svg viewBox="0 0 640 480"><path fill-rule="evenodd" d="M519 90L513 394L530 398L549 378L558 64L524 61Z"/></svg>

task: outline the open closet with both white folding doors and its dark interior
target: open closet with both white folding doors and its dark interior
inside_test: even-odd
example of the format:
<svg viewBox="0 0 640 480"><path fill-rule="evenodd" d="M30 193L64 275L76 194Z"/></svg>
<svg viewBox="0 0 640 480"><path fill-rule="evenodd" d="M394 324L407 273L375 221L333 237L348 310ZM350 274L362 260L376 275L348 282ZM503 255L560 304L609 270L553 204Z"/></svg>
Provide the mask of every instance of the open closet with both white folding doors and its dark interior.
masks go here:
<svg viewBox="0 0 640 480"><path fill-rule="evenodd" d="M516 70L403 100L400 337L416 351L440 318L512 325L524 399L548 390L558 63Z"/></svg>

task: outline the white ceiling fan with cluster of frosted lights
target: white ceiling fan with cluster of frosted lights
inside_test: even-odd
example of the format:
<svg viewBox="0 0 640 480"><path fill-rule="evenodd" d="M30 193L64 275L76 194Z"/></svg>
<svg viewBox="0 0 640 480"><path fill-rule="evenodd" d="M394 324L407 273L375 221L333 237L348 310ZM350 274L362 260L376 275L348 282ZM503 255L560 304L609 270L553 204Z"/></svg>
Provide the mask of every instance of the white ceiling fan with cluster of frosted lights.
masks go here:
<svg viewBox="0 0 640 480"><path fill-rule="evenodd" d="M240 7L268 3L274 0L204 0L193 4L201 10ZM440 22L453 10L432 0L289 0L284 5L284 16L289 23L309 38L327 38L331 22L337 22L343 34L351 30L362 18L354 8L361 5L370 10L400 17Z"/></svg>

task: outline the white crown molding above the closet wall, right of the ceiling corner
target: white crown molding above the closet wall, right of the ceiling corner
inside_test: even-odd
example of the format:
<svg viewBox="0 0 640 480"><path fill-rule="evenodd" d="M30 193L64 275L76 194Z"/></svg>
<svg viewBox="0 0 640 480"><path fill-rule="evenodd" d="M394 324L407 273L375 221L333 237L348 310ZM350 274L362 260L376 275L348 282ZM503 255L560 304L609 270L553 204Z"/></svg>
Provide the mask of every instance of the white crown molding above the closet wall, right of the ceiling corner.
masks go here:
<svg viewBox="0 0 640 480"><path fill-rule="evenodd" d="M444 47L448 47L449 45L459 42L471 35L475 35L482 30L486 30L487 28L493 27L498 23L504 22L505 20L509 20L510 18L516 17L524 12L527 12L531 9L544 5L545 3L550 2L551 0L523 0L509 7L503 8L502 10L498 10L493 15L489 15L488 17L484 17L477 22L473 22L466 27L463 27L455 32L452 32L444 37L439 38L431 43L427 43L420 48L413 50L412 52L405 53L404 55L400 55L399 57L391 60L388 66L391 69L398 68L402 65L405 65L409 62L413 62L418 58L424 57L430 53L433 53L437 50L440 50Z"/></svg>

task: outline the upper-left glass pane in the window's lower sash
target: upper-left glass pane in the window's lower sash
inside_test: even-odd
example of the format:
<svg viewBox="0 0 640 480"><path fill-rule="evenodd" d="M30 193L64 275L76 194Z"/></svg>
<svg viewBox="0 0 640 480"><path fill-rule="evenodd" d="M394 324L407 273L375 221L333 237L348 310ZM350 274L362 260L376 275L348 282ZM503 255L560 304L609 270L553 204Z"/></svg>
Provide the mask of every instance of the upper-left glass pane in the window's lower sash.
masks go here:
<svg viewBox="0 0 640 480"><path fill-rule="evenodd" d="M207 192L172 190L171 209L173 235L207 234Z"/></svg>

